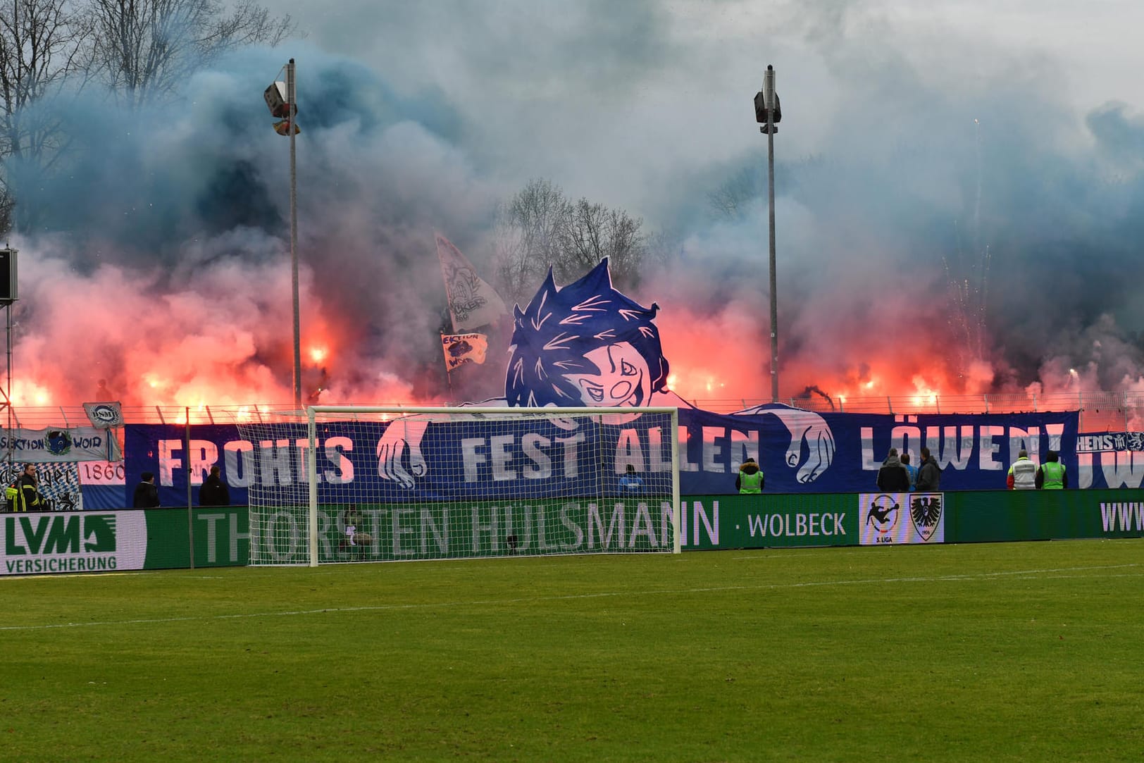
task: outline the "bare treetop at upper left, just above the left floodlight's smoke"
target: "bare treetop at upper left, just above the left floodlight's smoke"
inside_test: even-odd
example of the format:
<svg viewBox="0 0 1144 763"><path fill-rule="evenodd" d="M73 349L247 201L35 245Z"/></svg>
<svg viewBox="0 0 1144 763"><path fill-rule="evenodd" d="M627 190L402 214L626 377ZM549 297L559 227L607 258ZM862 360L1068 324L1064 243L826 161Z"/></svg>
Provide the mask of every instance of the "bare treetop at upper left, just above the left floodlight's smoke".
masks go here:
<svg viewBox="0 0 1144 763"><path fill-rule="evenodd" d="M294 32L253 0L230 13L220 0L80 0L92 27L90 55L127 105L170 97L181 80L219 55L245 45L277 45Z"/></svg>

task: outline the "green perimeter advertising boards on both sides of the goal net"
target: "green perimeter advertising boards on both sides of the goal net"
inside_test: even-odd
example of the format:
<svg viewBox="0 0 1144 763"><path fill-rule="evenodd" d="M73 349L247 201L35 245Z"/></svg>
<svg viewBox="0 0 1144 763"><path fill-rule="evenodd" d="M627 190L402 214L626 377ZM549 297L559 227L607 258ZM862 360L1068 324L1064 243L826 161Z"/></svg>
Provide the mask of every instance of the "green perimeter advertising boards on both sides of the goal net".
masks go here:
<svg viewBox="0 0 1144 763"><path fill-rule="evenodd" d="M684 550L1144 538L1135 490L690 495ZM0 515L0 574L239 566L246 507ZM193 549L193 564L192 564Z"/></svg>

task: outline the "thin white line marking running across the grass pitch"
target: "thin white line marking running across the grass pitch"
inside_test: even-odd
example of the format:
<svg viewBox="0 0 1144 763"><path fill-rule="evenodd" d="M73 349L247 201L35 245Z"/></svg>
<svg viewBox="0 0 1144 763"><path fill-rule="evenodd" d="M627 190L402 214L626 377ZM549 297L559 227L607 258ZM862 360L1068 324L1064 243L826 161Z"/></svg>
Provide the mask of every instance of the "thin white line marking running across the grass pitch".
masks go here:
<svg viewBox="0 0 1144 763"><path fill-rule="evenodd" d="M1139 564L1110 564L1110 565L1098 565L1098 566L1086 566L1086 567L1055 567L1046 570L1012 570L1009 572L982 572L977 574L961 574L961 575L935 575L935 577L912 577L912 578L866 578L860 580L827 580L821 582L802 582L802 583L769 583L761 586L717 586L710 588L682 588L682 589L664 589L664 590L651 590L651 591L602 591L598 594L569 594L565 596L527 596L519 598L500 598L500 599L475 599L470 602L437 602L432 604L378 604L373 606L335 606L335 607L321 607L315 610L289 610L286 612L247 612L239 614L202 614L202 615L190 615L184 618L138 618L132 620L97 620L93 622L59 622L53 625L40 625L40 626L0 626L0 631L6 630L56 630L59 628L93 628L101 626L132 626L132 625L156 625L162 622L194 622L194 621L207 621L207 620L243 620L249 618L283 618L283 617L299 617L307 614L332 614L340 612L383 612L383 611L395 611L395 610L428 610L434 607L454 607L454 606L482 606L482 605L502 605L502 604L521 604L523 602L566 602L574 599L587 599L587 598L609 598L609 597L620 597L620 596L644 596L649 594L707 594L713 591L728 591L728 590L779 590L779 589L794 589L794 588L819 588L827 586L869 586L875 583L896 583L896 582L937 582L943 580L990 580L994 578L1008 578L1012 575L1028 575L1035 577L1062 577L1055 575L1054 573L1063 572L1082 572L1091 570L1123 570L1128 567L1138 567ZM1081 575L1067 575L1067 577L1081 577ZM1091 577L1091 575L1085 575ZM1126 578L1130 575L1105 575L1114 578Z"/></svg>

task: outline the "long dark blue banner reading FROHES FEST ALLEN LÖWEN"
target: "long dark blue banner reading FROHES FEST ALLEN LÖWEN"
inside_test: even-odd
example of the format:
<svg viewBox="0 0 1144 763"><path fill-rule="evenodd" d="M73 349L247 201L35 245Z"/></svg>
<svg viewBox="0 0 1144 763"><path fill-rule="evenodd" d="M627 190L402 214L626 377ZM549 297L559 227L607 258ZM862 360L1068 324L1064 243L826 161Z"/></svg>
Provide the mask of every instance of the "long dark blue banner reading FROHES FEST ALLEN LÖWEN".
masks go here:
<svg viewBox="0 0 1144 763"><path fill-rule="evenodd" d="M942 469L943 491L1003 490L1022 448L1038 459L1055 450L1064 463L1074 464L1077 424L1077 412L896 416L788 406L733 415L681 410L681 492L734 493L738 467L752 456L763 468L766 493L861 493L874 488L890 447L920 464L923 446ZM426 469L412 485L402 485L379 474L378 443L388 426L324 426L319 500L353 500L351 490L389 502L573 496L585 490L582 475L598 474L597 464L603 475L591 490L606 495L620 493L628 463L637 474L670 469L669 435L660 422L582 424L570 432L553 422L522 420L495 437L471 422L442 422L419 435ZM279 487L305 484L304 424L284 426L280 437L267 444L239 439L233 426L197 426L189 456L184 434L181 426L127 424L128 492L143 471L151 471L162 506L185 506L189 467L197 502L197 486L214 464L222 467L236 504L246 502L254 479Z"/></svg>

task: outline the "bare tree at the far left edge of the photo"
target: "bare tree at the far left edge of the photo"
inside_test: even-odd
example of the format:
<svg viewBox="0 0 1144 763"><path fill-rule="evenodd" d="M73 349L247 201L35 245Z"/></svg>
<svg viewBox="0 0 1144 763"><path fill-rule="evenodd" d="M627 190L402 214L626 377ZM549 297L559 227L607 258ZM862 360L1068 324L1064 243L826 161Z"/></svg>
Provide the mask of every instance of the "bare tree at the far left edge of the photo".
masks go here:
<svg viewBox="0 0 1144 763"><path fill-rule="evenodd" d="M6 225L18 197L13 165L50 170L66 141L58 112L37 106L58 95L79 67L85 29L69 8L67 0L15 0L0 7L0 212Z"/></svg>

